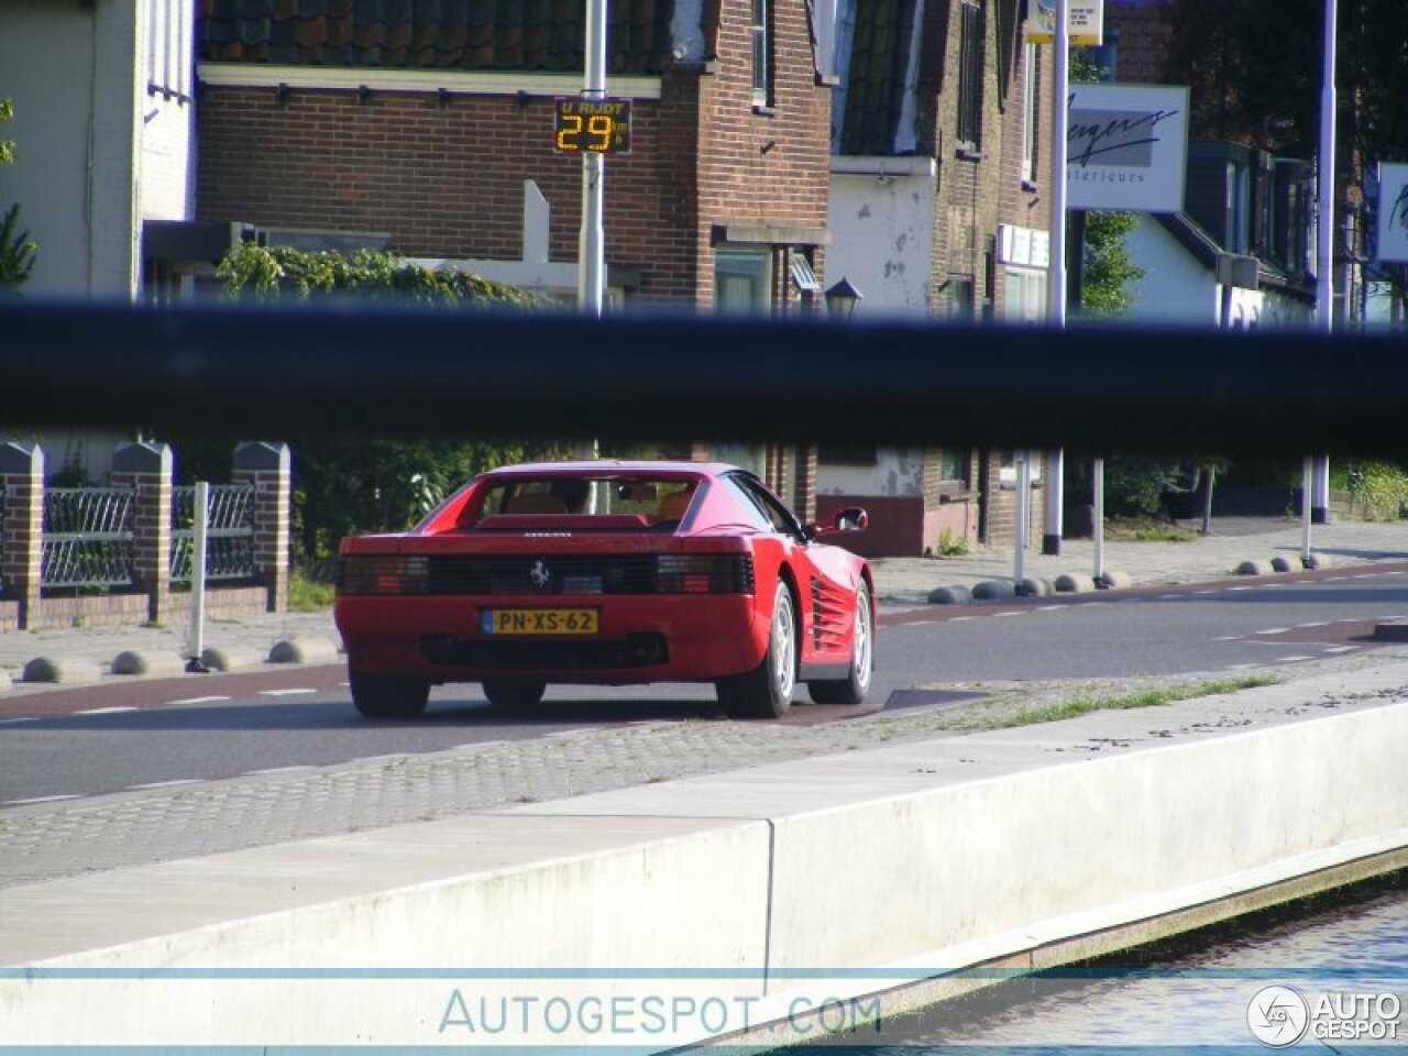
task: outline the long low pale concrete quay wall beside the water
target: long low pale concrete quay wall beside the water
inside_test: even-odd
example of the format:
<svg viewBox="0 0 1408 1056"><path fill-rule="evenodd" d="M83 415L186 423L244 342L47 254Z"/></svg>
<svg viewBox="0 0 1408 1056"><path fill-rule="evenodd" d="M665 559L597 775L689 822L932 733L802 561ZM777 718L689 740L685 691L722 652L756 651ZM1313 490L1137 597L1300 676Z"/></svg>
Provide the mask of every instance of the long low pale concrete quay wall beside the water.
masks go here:
<svg viewBox="0 0 1408 1056"><path fill-rule="evenodd" d="M1328 679L1236 700L1246 732L1204 698L10 888L0 963L27 972L0 974L0 1035L667 1049L1402 863L1408 704ZM1150 724L1173 742L1079 749ZM484 1001L515 995L521 1029L486 1036ZM684 1014L643 1029L650 1000Z"/></svg>

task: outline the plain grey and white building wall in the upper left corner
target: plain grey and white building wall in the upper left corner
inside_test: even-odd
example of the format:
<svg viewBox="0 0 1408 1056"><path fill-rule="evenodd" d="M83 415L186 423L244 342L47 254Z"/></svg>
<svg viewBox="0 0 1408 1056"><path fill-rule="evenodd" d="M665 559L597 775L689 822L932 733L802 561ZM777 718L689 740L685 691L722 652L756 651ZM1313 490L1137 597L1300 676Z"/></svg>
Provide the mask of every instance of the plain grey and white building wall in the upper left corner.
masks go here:
<svg viewBox="0 0 1408 1056"><path fill-rule="evenodd" d="M193 23L180 0L0 10L0 93L15 104L0 135L18 148L0 208L18 201L39 246L25 296L131 298L141 220L191 215Z"/></svg>

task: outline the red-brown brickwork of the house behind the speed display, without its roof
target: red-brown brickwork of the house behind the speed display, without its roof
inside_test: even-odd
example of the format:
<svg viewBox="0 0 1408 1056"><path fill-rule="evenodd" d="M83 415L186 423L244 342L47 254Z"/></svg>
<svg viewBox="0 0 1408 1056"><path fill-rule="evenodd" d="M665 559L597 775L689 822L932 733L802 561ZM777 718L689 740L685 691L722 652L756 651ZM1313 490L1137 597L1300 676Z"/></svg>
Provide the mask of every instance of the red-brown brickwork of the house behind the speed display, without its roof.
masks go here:
<svg viewBox="0 0 1408 1056"><path fill-rule="evenodd" d="M712 304L714 224L822 227L829 89L803 0L774 4L776 110L749 97L748 0L722 0L717 62L636 100L632 152L607 159L607 263L645 303ZM411 256L517 259L522 182L552 207L551 256L576 260L582 165L552 151L552 100L203 86L201 220L384 232ZM763 148L772 144L765 152ZM819 262L818 262L819 263Z"/></svg>

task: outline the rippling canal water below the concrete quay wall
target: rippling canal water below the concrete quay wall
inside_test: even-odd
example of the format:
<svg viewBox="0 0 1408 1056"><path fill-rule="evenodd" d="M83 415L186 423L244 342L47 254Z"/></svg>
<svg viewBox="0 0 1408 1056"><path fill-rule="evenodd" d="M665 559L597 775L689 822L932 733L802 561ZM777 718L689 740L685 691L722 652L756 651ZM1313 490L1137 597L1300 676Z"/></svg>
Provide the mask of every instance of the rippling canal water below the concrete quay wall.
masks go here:
<svg viewBox="0 0 1408 1056"><path fill-rule="evenodd" d="M863 1052L1408 1053L1408 876L1353 898L1301 904L1294 918L1263 915L1252 929L1204 932L1124 963L1004 983L881 1024Z"/></svg>

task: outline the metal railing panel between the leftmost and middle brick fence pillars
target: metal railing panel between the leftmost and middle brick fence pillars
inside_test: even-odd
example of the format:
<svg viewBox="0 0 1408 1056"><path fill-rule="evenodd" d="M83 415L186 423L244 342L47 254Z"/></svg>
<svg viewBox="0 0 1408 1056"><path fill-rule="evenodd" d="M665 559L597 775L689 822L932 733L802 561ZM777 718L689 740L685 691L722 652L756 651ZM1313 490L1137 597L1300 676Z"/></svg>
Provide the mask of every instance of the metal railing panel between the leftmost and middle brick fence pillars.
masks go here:
<svg viewBox="0 0 1408 1056"><path fill-rule="evenodd" d="M128 487L51 487L44 493L39 582L51 587L132 586L132 520Z"/></svg>

